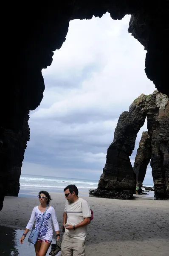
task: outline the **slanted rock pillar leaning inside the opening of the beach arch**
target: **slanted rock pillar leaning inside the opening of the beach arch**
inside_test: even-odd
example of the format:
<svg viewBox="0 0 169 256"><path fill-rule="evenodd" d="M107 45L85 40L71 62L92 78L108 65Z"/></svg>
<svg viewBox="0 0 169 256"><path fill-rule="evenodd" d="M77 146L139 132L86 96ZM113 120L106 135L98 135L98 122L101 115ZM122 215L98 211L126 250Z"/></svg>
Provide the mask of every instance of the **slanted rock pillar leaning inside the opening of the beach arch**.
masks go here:
<svg viewBox="0 0 169 256"><path fill-rule="evenodd" d="M152 157L152 140L148 131L144 131L141 136L133 171L136 174L136 181L139 185L138 194L142 192L146 169Z"/></svg>

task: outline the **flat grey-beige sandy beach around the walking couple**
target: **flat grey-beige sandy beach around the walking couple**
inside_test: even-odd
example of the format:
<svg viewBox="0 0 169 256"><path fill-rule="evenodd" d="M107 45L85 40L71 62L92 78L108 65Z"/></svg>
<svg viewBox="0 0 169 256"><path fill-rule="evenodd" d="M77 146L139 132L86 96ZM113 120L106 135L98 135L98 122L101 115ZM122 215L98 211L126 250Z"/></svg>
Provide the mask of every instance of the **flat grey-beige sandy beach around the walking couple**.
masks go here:
<svg viewBox="0 0 169 256"><path fill-rule="evenodd" d="M51 196L61 227L65 197L60 193L51 193ZM169 255L169 201L142 197L130 201L82 198L94 212L87 228L86 256ZM37 198L6 197L0 212L0 226L24 230L37 204ZM28 249L27 240L24 246Z"/></svg>

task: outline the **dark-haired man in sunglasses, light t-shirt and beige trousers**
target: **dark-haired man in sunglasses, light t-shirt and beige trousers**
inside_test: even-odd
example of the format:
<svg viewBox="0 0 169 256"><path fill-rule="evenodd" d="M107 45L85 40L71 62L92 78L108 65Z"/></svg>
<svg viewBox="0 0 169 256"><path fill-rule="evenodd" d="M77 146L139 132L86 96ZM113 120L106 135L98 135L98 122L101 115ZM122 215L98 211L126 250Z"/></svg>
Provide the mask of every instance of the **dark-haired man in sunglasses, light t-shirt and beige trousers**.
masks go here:
<svg viewBox="0 0 169 256"><path fill-rule="evenodd" d="M86 200L78 197L75 185L64 189L67 199L63 212L65 233L62 239L62 256L85 256L87 225L90 224L91 210Z"/></svg>

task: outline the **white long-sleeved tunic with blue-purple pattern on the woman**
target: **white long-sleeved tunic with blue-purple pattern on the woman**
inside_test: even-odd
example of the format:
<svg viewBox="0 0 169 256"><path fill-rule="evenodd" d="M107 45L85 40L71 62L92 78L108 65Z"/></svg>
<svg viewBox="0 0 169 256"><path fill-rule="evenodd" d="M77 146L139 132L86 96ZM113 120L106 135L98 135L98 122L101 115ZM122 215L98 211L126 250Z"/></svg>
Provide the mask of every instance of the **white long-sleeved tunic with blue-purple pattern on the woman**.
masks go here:
<svg viewBox="0 0 169 256"><path fill-rule="evenodd" d="M26 228L29 230L32 230L34 222L36 221L35 229L38 230L43 214L44 213L39 210L38 206L34 207L31 214L31 218ZM52 241L52 238L53 238L52 221L54 224L54 230L59 231L59 224L57 221L55 209L54 207L50 206L45 213L45 217L43 219L42 225L39 230L38 239L41 239L41 240L46 239L46 240Z"/></svg>

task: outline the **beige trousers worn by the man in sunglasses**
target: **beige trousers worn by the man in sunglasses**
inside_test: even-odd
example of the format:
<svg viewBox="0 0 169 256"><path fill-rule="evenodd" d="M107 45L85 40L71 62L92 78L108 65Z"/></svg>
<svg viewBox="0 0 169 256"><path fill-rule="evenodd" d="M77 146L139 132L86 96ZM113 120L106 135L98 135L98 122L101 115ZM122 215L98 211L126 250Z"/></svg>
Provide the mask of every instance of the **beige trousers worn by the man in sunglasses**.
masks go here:
<svg viewBox="0 0 169 256"><path fill-rule="evenodd" d="M61 250L62 256L85 256L85 239L76 239L64 233Z"/></svg>

